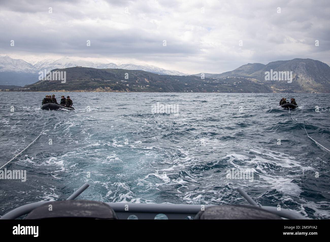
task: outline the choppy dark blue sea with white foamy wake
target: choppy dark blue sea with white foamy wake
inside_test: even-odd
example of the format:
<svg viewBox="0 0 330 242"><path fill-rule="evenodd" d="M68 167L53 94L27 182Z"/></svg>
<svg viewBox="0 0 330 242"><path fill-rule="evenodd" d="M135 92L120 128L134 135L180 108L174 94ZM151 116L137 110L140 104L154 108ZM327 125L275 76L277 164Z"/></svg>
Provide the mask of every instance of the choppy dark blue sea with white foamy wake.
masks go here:
<svg viewBox="0 0 330 242"><path fill-rule="evenodd" d="M81 198L103 202L247 204L241 186L260 204L330 218L330 154L305 132L330 147L328 94L295 94L294 120L283 94L70 93L76 110L51 112L31 101L43 93L8 103L16 95L0 96L0 165L43 134L7 166L27 180L0 180L1 214L88 182ZM157 102L179 113L153 113ZM231 169L253 181L228 179Z"/></svg>

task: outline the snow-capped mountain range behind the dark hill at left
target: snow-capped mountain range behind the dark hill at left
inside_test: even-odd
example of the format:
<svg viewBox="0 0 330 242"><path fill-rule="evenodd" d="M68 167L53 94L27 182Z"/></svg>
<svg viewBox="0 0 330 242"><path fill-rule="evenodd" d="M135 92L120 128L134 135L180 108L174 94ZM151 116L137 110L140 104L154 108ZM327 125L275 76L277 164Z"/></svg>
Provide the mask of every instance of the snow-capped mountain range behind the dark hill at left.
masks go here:
<svg viewBox="0 0 330 242"><path fill-rule="evenodd" d="M16 57L16 56L15 56ZM16 57L17 58L17 57ZM83 60L75 60L69 57L62 57L58 60L51 58L40 59L38 57L24 57L22 59L13 59L9 56L0 56L0 85L26 85L38 81L38 72L62 69L69 67L91 67L97 69L127 69L144 70L162 75L186 75L175 70L166 70L150 65L134 65L115 63L100 63Z"/></svg>

